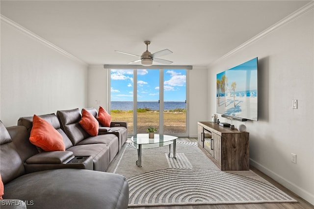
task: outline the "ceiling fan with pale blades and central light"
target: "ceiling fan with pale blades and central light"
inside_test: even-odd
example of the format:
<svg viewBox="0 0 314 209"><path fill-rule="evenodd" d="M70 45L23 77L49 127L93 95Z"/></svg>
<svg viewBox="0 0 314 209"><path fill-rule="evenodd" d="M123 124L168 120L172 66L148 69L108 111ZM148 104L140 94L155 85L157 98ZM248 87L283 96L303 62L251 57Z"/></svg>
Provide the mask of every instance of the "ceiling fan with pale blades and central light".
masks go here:
<svg viewBox="0 0 314 209"><path fill-rule="evenodd" d="M136 55L136 54L127 53L127 52L120 52L120 51L115 51L115 52L125 53L125 54L129 54L132 56L137 56L140 58L138 60L129 62L128 64L132 64L132 63L136 63L136 62L140 61L143 66L152 66L153 60L154 60L154 62L159 62L159 63L167 64L167 65L173 63L172 61L169 61L169 60L157 58L159 56L164 56L164 55L172 53L170 50L166 49L166 50L161 50L159 52L151 53L148 51L148 45L150 45L150 43L151 43L150 41L144 41L144 44L146 45L146 51L143 52L141 56Z"/></svg>

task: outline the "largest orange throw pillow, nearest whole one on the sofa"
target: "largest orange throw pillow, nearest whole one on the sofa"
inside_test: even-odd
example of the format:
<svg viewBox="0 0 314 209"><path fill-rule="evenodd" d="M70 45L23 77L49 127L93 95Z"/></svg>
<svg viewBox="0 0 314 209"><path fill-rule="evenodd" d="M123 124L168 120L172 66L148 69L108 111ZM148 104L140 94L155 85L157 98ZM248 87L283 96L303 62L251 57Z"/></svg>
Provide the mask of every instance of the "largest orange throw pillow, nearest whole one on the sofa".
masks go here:
<svg viewBox="0 0 314 209"><path fill-rule="evenodd" d="M46 152L65 151L62 135L50 123L37 115L33 116L29 141Z"/></svg>

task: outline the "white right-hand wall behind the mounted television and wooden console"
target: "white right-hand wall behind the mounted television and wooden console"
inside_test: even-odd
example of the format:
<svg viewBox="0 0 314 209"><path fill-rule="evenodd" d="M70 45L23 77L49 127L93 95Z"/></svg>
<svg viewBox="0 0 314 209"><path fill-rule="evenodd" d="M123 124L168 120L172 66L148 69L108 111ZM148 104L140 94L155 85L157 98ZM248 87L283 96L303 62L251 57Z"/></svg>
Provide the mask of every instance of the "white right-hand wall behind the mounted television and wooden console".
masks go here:
<svg viewBox="0 0 314 209"><path fill-rule="evenodd" d="M209 66L209 113L216 112L216 74L256 56L259 121L244 122L250 163L314 205L313 9Z"/></svg>

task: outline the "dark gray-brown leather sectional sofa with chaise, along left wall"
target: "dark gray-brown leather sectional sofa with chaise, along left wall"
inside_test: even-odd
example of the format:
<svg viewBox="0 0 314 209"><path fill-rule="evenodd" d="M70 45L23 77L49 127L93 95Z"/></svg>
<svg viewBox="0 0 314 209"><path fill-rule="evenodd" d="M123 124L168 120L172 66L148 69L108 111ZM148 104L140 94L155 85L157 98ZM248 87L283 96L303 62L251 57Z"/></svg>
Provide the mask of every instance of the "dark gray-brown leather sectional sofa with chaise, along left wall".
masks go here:
<svg viewBox="0 0 314 209"><path fill-rule="evenodd" d="M39 117L62 135L66 151L40 152L31 144L32 117L22 117L18 126L7 128L0 122L5 199L1 208L7 207L3 201L17 199L24 201L27 209L127 209L126 179L105 172L126 141L122 138L127 137L126 123L112 123L115 131L107 127L105 133L90 136L78 124L78 109Z"/></svg>

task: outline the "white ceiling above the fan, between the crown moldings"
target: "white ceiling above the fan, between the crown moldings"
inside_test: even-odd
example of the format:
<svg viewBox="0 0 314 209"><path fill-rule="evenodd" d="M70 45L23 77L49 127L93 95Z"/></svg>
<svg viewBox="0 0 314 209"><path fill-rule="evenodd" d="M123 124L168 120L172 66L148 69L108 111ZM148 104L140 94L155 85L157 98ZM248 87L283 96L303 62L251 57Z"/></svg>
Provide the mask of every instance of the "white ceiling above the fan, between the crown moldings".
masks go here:
<svg viewBox="0 0 314 209"><path fill-rule="evenodd" d="M1 0L1 14L88 64L127 64L169 49L207 66L307 4L302 0ZM256 54L255 54L256 55ZM252 57L255 56L252 54Z"/></svg>

